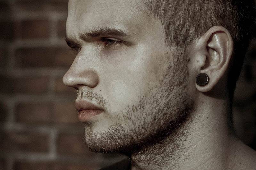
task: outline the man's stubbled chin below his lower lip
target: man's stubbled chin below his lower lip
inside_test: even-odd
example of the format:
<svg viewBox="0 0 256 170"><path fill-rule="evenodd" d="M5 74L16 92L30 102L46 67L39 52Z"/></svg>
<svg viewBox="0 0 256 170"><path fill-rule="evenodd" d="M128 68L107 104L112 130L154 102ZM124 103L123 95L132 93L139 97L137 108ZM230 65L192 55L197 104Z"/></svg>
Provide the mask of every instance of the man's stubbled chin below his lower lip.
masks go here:
<svg viewBox="0 0 256 170"><path fill-rule="evenodd" d="M121 153L128 152L129 145L136 142L128 127L119 123L110 122L86 122L84 123L84 143L95 153Z"/></svg>

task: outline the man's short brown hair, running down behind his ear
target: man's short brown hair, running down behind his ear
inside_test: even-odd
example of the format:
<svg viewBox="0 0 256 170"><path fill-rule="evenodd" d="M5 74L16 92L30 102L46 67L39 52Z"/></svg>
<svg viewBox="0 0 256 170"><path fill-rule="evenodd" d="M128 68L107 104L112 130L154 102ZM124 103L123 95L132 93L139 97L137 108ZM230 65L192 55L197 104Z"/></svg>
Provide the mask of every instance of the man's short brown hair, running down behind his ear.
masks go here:
<svg viewBox="0 0 256 170"><path fill-rule="evenodd" d="M253 0L142 0L148 14L164 26L168 46L186 48L213 26L223 26L234 41L228 70L229 97L233 98L245 53L255 36Z"/></svg>

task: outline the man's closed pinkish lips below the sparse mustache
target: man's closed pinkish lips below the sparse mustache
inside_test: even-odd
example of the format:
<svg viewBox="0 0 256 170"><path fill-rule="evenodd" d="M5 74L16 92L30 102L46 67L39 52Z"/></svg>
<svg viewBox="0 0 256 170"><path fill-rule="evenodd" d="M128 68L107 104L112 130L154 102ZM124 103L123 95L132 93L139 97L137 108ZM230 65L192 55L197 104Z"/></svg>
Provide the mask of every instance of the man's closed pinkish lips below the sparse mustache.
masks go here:
<svg viewBox="0 0 256 170"><path fill-rule="evenodd" d="M76 101L75 107L78 111L78 119L80 122L87 122L92 119L93 116L99 115L104 111L101 107L85 100Z"/></svg>

